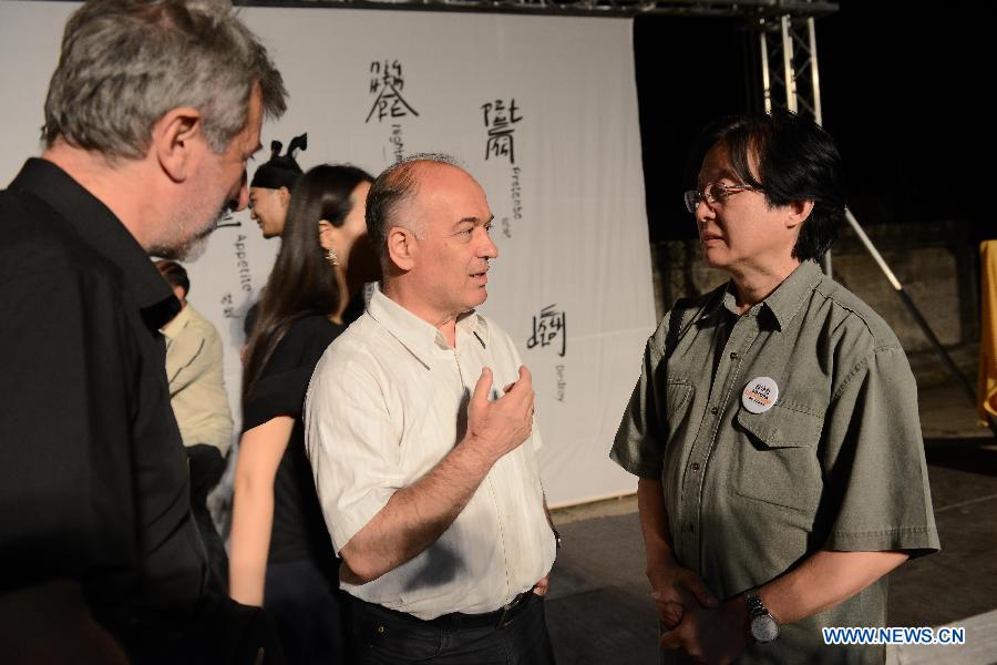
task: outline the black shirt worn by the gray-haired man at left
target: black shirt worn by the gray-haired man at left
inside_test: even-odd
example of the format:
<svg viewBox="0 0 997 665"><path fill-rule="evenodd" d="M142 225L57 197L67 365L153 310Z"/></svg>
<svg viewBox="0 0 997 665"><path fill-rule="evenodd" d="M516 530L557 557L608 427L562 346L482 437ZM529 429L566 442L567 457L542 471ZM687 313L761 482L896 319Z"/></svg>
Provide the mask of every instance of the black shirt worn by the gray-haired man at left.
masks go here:
<svg viewBox="0 0 997 665"><path fill-rule="evenodd" d="M179 303L50 162L0 192L0 594L79 580L131 648L187 622L206 584L158 332Z"/></svg>

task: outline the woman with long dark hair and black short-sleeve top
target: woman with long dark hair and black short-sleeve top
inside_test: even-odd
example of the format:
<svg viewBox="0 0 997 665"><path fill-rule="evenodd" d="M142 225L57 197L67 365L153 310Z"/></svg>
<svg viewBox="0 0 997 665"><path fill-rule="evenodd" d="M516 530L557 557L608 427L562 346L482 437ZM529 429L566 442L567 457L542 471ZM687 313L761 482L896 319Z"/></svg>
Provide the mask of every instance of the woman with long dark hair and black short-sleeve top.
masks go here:
<svg viewBox="0 0 997 665"><path fill-rule="evenodd" d="M305 456L305 392L350 321L345 264L372 178L317 166L298 182L243 372L229 586L277 623L289 663L342 663L339 560ZM360 308L362 313L362 308Z"/></svg>

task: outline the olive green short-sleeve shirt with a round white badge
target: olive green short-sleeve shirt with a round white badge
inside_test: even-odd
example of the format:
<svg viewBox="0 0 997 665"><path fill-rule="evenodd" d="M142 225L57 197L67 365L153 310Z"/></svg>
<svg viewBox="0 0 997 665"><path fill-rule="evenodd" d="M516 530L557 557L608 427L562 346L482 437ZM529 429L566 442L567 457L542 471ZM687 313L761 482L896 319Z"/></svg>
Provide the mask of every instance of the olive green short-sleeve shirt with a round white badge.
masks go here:
<svg viewBox="0 0 997 665"><path fill-rule="evenodd" d="M819 550L937 551L917 387L890 327L812 262L742 316L730 288L662 319L610 453L662 480L679 563L730 597ZM778 397L756 413L742 392L760 377ZM885 620L884 577L739 662L883 662L821 627Z"/></svg>

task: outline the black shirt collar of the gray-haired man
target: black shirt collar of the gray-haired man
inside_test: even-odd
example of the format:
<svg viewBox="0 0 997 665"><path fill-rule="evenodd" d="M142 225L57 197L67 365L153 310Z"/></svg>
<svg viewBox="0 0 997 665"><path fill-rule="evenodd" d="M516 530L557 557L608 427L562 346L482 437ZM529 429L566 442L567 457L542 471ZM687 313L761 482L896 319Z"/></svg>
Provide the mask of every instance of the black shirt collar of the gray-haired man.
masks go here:
<svg viewBox="0 0 997 665"><path fill-rule="evenodd" d="M32 157L10 188L43 201L84 243L116 266L122 273L124 288L138 305L150 328L162 327L179 311L179 300L145 249L106 205L65 171L48 160Z"/></svg>

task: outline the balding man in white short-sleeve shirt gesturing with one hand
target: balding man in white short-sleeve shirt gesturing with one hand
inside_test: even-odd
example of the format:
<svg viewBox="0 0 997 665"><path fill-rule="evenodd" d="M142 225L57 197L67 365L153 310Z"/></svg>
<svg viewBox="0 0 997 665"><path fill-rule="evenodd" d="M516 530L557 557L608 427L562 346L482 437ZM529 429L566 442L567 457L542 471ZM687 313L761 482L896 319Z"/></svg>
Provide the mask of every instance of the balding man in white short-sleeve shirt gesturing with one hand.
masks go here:
<svg viewBox="0 0 997 665"><path fill-rule="evenodd" d="M382 288L311 380L306 447L358 663L554 661L530 371L474 311L498 254L491 224L446 157L382 173L367 201Z"/></svg>

